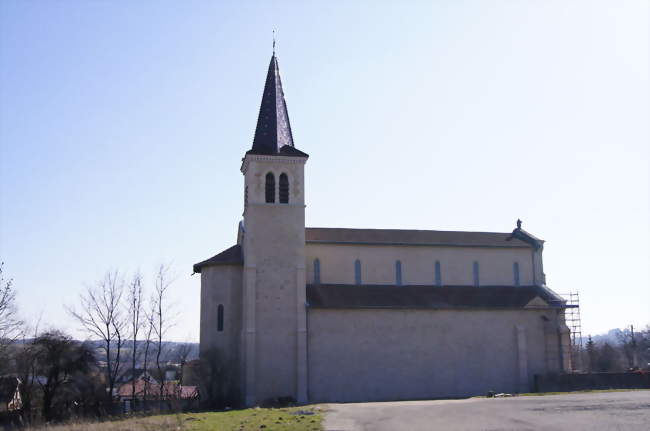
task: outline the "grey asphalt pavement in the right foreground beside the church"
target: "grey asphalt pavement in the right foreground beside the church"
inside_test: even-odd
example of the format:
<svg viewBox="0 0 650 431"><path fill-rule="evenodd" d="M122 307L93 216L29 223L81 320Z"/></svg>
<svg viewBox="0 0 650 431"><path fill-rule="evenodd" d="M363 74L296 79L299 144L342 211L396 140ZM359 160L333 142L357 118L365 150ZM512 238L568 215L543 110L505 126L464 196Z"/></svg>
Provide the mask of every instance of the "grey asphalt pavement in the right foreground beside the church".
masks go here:
<svg viewBox="0 0 650 431"><path fill-rule="evenodd" d="M328 404L327 431L650 431L650 390Z"/></svg>

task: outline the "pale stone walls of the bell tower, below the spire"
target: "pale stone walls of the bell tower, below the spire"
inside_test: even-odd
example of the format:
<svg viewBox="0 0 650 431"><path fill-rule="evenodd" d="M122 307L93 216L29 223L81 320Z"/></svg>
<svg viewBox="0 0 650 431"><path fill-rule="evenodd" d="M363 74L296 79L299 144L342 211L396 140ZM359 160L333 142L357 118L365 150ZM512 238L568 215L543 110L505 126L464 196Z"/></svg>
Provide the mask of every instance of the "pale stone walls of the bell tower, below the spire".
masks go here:
<svg viewBox="0 0 650 431"><path fill-rule="evenodd" d="M247 155L243 322L245 404L305 401L305 158ZM266 203L268 173L289 178L288 203Z"/></svg>

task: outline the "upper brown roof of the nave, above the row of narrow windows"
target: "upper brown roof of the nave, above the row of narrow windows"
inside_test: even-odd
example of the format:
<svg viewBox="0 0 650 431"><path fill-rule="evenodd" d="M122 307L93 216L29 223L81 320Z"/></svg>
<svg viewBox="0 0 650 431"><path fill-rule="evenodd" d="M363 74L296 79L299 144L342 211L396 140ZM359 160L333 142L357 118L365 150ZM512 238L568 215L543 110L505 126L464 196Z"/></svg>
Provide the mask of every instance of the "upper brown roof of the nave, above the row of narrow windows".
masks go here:
<svg viewBox="0 0 650 431"><path fill-rule="evenodd" d="M308 227L307 243L530 248L511 233ZM538 240L539 241L539 240Z"/></svg>

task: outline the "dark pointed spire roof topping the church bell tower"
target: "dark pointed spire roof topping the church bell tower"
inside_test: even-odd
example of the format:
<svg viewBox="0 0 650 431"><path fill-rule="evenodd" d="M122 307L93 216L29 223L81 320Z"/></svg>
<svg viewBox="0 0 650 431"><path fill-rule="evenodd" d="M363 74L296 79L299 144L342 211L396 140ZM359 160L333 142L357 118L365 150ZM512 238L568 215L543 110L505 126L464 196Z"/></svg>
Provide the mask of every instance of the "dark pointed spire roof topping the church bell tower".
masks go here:
<svg viewBox="0 0 650 431"><path fill-rule="evenodd" d="M291 134L289 114L287 113L287 104L282 91L278 59L274 50L266 74L253 148L249 153L278 154L285 145L293 147L293 136ZM286 150L289 150L289 148L286 148L283 152L286 152Z"/></svg>

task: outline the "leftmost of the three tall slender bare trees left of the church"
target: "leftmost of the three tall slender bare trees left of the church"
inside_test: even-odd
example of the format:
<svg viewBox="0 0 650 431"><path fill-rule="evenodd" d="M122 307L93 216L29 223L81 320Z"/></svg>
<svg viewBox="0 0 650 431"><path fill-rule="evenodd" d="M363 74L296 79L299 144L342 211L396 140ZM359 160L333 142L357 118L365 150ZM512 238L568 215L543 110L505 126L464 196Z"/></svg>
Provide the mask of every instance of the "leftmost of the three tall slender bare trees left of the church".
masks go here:
<svg viewBox="0 0 650 431"><path fill-rule="evenodd" d="M121 366L121 352L127 319L123 312L122 294L124 280L117 271L108 271L95 286L89 286L79 298L81 309L68 308L83 328L103 341L106 360L106 382L108 399L113 400L117 376ZM114 351L113 351L114 349Z"/></svg>

